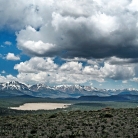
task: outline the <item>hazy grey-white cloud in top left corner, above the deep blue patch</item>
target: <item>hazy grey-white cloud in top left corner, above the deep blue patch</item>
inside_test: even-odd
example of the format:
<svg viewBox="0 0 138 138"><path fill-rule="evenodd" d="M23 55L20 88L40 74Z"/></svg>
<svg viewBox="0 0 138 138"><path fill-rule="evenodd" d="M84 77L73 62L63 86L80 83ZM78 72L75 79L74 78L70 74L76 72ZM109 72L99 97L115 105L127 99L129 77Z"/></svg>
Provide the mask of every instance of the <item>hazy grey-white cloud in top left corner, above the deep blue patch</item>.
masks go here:
<svg viewBox="0 0 138 138"><path fill-rule="evenodd" d="M20 30L26 25L39 28L50 19L53 0L0 0L0 29ZM7 8L8 7L8 8ZM6 9L6 10L5 10Z"/></svg>

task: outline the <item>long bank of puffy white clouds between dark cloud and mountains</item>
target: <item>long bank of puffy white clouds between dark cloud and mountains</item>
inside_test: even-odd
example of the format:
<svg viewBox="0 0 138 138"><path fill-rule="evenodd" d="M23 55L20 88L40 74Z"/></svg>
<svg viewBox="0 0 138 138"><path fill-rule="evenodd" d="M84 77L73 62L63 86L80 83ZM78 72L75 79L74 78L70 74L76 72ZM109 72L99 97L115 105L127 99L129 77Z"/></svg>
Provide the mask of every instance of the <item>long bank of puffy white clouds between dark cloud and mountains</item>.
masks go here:
<svg viewBox="0 0 138 138"><path fill-rule="evenodd" d="M127 81L135 77L135 66L111 65L104 63L103 67L85 65L78 61L67 61L62 65L54 63L52 58L34 57L29 61L16 64L18 79L47 83L86 83L92 80L104 82L105 79Z"/></svg>

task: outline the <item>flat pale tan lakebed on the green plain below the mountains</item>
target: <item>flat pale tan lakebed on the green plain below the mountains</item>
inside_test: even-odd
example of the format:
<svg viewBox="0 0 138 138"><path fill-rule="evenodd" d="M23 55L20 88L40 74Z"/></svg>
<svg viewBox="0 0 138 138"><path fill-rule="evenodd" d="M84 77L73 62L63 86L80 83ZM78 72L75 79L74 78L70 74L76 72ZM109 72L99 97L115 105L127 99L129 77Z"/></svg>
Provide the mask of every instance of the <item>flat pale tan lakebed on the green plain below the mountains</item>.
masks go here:
<svg viewBox="0 0 138 138"><path fill-rule="evenodd" d="M67 108L71 104L66 103L25 103L19 107L10 107L16 110L54 110L57 108Z"/></svg>

